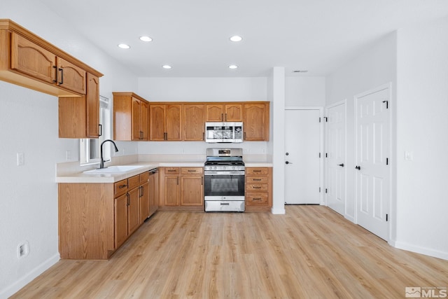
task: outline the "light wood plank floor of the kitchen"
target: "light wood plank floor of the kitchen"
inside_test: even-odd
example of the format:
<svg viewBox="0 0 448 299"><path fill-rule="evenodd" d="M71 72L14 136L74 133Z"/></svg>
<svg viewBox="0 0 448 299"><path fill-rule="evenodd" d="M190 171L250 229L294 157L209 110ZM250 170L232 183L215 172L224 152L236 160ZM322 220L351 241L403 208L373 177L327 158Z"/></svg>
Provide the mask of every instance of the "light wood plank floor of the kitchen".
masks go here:
<svg viewBox="0 0 448 299"><path fill-rule="evenodd" d="M110 260L61 260L12 298L405 298L448 260L401 251L322 206L158 212Z"/></svg>

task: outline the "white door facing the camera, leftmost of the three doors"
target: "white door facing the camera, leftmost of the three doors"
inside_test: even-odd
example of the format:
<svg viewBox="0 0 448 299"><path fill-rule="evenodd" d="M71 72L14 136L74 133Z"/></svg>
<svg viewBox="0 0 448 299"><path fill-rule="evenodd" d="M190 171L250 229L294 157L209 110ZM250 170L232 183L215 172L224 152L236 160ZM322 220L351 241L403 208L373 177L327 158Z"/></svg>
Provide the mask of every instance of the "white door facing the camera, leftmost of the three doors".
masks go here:
<svg viewBox="0 0 448 299"><path fill-rule="evenodd" d="M285 203L320 204L319 110L285 111Z"/></svg>

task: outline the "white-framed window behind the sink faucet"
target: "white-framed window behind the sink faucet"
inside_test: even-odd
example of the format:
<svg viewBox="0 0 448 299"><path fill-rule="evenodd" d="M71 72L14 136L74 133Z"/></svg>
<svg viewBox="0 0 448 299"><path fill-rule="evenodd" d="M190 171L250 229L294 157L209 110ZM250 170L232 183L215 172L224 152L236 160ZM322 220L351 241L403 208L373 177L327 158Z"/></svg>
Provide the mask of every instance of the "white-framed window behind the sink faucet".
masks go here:
<svg viewBox="0 0 448 299"><path fill-rule="evenodd" d="M101 132L99 138L79 139L80 165L99 163L99 151L102 142L111 136L111 101L107 97L99 96L99 123ZM111 157L109 146L104 147L104 160Z"/></svg>

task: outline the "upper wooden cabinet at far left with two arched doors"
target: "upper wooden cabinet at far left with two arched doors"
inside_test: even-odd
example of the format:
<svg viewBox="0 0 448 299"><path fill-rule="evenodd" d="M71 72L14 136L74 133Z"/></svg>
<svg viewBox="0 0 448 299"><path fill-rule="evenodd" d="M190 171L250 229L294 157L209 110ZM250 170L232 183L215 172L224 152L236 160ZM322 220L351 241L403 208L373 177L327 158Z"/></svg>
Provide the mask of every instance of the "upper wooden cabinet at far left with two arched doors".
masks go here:
<svg viewBox="0 0 448 299"><path fill-rule="evenodd" d="M11 20L0 20L0 79L57 97L87 92L87 73L103 76Z"/></svg>

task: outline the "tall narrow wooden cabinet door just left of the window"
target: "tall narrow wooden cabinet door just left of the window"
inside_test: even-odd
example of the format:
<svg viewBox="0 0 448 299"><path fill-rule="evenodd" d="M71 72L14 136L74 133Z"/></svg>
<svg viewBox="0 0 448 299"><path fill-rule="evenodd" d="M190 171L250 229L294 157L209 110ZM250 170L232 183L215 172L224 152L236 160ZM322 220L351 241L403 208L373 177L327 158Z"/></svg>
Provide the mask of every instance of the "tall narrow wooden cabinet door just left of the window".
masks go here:
<svg viewBox="0 0 448 299"><path fill-rule="evenodd" d="M99 137L99 78L87 73L87 90L85 94L87 109L87 137Z"/></svg>

